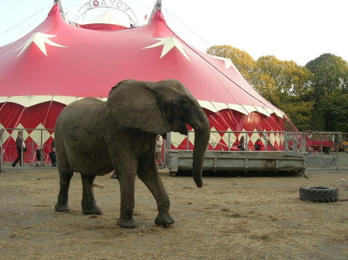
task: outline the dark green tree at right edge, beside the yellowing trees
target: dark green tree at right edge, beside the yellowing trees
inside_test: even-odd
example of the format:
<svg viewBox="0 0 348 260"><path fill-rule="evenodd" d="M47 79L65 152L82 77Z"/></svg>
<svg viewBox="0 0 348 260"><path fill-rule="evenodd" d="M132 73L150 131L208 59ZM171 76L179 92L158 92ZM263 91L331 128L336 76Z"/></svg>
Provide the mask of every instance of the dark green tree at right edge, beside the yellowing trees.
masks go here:
<svg viewBox="0 0 348 260"><path fill-rule="evenodd" d="M314 75L313 120L325 131L348 132L348 64L341 57L325 53L308 62Z"/></svg>

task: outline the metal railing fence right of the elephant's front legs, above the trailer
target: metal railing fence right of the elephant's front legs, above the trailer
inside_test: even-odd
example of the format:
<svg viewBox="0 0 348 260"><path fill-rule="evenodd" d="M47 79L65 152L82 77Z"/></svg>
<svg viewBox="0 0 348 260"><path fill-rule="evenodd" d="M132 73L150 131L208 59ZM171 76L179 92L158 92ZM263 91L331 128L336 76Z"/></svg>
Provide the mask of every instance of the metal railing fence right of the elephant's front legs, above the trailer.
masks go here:
<svg viewBox="0 0 348 260"><path fill-rule="evenodd" d="M185 150L190 150L190 142L194 131L189 131L186 136ZM293 151L293 152L307 152L307 166L322 169L343 169L348 168L348 152L345 144L347 142L348 133L338 132L253 132L253 131L211 131L211 141L207 150L222 150L235 151L233 147L236 141L236 136L243 135L246 138L246 143L252 142L255 138L260 138L265 144L265 151ZM225 145L221 145L219 140L214 141L214 136L224 136ZM270 136L273 136L270 138ZM278 143L274 143L274 139ZM213 141L212 141L213 140ZM279 142L281 145L279 146ZM167 140L167 147L170 147L170 135ZM347 143L348 144L348 143ZM280 148L280 149L279 149ZM251 151L250 147L247 151Z"/></svg>

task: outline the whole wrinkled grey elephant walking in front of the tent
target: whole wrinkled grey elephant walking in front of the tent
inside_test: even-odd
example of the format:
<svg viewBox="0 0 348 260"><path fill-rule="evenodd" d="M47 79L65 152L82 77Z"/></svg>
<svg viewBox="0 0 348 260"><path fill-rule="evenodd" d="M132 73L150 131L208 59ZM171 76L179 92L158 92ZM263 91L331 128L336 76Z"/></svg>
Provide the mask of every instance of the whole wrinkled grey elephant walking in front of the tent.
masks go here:
<svg viewBox="0 0 348 260"><path fill-rule="evenodd" d="M186 124L195 130L193 177L200 188L209 122L198 101L177 80L125 80L111 89L106 102L84 98L70 104L59 114L54 131L60 176L55 210L70 211L69 185L76 172L82 179L82 212L101 214L93 182L96 175L115 170L121 191L118 226L137 226L133 219L136 175L156 199L155 223L174 223L169 214L169 197L156 168L156 134L187 134Z"/></svg>

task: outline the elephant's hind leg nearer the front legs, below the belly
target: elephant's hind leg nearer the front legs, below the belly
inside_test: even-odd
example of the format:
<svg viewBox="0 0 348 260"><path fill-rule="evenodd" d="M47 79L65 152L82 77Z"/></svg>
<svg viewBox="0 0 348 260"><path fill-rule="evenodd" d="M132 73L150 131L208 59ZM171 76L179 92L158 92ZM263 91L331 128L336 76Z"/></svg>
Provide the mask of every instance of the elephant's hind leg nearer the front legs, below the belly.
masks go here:
<svg viewBox="0 0 348 260"><path fill-rule="evenodd" d="M86 215L100 215L101 209L97 206L96 200L94 199L93 182L96 175L84 175L81 174L82 179L82 212Z"/></svg>

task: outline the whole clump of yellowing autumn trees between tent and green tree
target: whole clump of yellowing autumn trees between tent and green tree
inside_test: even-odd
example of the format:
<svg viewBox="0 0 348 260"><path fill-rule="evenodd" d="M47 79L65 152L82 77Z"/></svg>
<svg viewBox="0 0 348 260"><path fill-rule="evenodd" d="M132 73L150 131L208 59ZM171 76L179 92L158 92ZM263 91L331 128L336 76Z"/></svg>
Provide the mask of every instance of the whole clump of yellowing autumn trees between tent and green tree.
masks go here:
<svg viewBox="0 0 348 260"><path fill-rule="evenodd" d="M228 45L211 46L207 53L231 59L247 82L287 113L299 130L313 128L313 75L307 68L274 56L263 56L255 62L246 51Z"/></svg>

